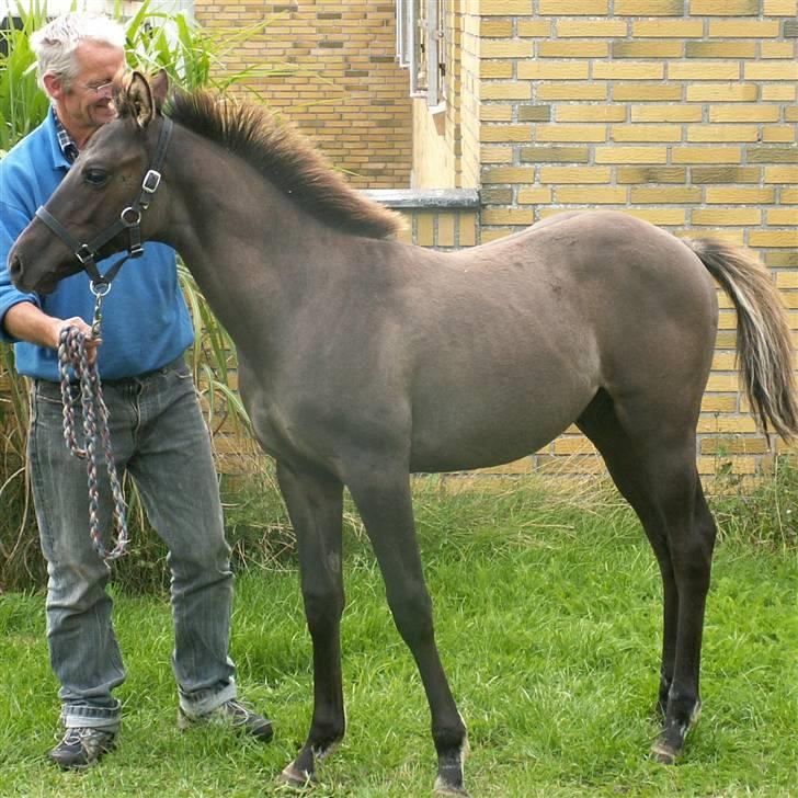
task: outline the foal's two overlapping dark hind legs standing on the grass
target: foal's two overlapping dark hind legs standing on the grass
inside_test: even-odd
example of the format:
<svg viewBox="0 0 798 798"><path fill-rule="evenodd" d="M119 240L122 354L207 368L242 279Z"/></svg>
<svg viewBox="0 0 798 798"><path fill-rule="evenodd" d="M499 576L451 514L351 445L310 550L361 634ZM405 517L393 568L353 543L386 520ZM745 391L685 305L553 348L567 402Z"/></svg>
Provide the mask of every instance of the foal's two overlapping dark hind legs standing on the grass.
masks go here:
<svg viewBox="0 0 798 798"><path fill-rule="evenodd" d="M643 418L657 417L649 412ZM654 755L673 762L700 706L698 671L715 523L695 468L692 426L674 432L663 417L663 424L640 433L628 410L624 419L622 423L609 396L600 391L578 424L640 517L660 566L664 609L658 705L665 722Z"/></svg>

